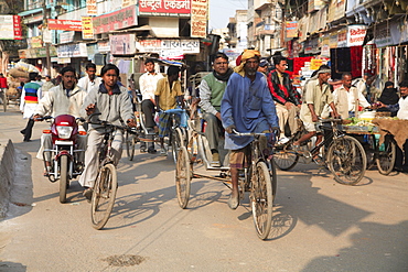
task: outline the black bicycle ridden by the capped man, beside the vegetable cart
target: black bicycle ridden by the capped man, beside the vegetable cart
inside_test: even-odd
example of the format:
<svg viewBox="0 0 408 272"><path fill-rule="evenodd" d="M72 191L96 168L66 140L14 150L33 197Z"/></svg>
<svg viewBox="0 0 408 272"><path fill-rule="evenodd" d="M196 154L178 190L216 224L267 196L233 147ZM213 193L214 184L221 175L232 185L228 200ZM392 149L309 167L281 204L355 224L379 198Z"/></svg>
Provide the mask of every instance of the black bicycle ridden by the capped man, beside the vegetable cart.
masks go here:
<svg viewBox="0 0 408 272"><path fill-rule="evenodd" d="M326 166L340 184L356 185L364 176L367 157L363 145L353 137L346 135L340 128L342 119L322 119L319 128L323 130L324 139L314 148L311 140L303 142L304 152L293 150L292 143L303 133L300 126L294 135L287 142L276 146L275 162L280 170L289 171L303 156L307 163L315 161ZM326 124L326 126L325 126ZM320 154L322 152L322 155ZM320 163L320 161L322 161Z"/></svg>

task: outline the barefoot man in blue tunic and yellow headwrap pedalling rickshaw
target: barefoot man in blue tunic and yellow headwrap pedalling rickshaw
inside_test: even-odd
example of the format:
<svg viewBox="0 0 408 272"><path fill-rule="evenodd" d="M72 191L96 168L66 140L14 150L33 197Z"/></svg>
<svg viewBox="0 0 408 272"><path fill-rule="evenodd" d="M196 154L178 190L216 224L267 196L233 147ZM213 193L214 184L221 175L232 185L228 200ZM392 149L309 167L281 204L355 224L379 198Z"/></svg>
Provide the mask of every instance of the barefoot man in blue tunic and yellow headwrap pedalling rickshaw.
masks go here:
<svg viewBox="0 0 408 272"><path fill-rule="evenodd" d="M253 137L235 137L233 129L239 132L278 131L279 123L267 79L257 72L260 54L247 50L241 63L235 67L221 104L221 116L225 128L225 148L230 150L229 167L233 192L228 206L236 209L239 205L238 170L247 166L250 156Z"/></svg>

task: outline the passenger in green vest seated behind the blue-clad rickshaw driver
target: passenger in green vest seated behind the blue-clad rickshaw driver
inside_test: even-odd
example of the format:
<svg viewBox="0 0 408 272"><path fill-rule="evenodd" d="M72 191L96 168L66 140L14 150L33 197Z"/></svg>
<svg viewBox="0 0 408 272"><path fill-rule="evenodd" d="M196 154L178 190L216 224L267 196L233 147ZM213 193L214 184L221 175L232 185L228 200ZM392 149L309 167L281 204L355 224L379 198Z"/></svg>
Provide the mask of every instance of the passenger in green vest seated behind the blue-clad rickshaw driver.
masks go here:
<svg viewBox="0 0 408 272"><path fill-rule="evenodd" d="M219 135L223 133L219 112L221 100L233 70L228 68L227 55L221 52L215 55L213 68L213 73L203 77L200 84L200 107L204 111L203 118L207 122L204 133L213 154L211 166L219 167L218 142Z"/></svg>

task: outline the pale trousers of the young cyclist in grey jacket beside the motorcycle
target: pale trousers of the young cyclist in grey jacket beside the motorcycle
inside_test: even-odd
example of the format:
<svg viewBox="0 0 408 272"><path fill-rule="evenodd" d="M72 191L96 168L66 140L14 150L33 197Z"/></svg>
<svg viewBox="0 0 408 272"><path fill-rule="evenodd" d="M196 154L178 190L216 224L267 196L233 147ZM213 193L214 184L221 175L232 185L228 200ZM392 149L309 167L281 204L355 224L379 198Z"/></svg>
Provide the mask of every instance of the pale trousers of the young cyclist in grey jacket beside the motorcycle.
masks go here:
<svg viewBox="0 0 408 272"><path fill-rule="evenodd" d="M124 142L124 133L120 130L114 132L114 141L111 143L111 153L115 166L121 157L121 143ZM79 177L79 184L84 187L93 187L94 182L99 171L99 148L104 141L104 133L97 130L89 130L88 143L85 152L85 168Z"/></svg>

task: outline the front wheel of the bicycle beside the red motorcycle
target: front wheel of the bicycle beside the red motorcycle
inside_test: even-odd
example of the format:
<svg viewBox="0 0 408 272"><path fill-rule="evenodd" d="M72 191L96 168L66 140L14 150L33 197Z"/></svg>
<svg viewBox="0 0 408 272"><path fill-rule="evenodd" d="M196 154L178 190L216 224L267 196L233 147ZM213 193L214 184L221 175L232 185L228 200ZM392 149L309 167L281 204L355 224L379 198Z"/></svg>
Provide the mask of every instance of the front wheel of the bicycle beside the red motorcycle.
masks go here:
<svg viewBox="0 0 408 272"><path fill-rule="evenodd" d="M95 229L101 229L109 219L114 208L118 179L116 167L109 163L100 167L98 178L94 185L92 197L92 222Z"/></svg>

